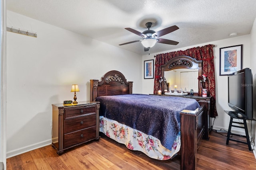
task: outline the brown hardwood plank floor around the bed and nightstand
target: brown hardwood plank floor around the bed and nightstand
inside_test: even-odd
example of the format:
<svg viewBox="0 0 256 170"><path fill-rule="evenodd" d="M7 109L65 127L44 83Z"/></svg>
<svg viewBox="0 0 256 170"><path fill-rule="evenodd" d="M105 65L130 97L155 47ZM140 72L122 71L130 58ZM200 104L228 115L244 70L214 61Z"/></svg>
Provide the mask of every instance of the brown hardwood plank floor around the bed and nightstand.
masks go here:
<svg viewBox="0 0 256 170"><path fill-rule="evenodd" d="M139 151L109 139L80 145L58 155L51 145L7 159L7 170L179 170L180 155L171 160L154 160ZM198 170L255 170L256 160L248 146L230 141L226 133L210 132L210 140L198 149ZM240 138L240 137L238 137ZM243 139L243 138L242 138ZM244 140L244 139L243 139Z"/></svg>

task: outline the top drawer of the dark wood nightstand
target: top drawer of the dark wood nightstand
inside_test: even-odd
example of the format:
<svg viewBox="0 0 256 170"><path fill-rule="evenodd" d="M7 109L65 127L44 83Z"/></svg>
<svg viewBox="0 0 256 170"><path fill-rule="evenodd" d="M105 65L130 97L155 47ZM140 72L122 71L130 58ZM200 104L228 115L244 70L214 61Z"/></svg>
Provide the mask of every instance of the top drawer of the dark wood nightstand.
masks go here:
<svg viewBox="0 0 256 170"><path fill-rule="evenodd" d="M84 107L76 107L76 108L67 108L67 109L64 109L64 112L65 112L65 119L69 119L69 118L77 117L87 113L95 113L96 107L84 106Z"/></svg>

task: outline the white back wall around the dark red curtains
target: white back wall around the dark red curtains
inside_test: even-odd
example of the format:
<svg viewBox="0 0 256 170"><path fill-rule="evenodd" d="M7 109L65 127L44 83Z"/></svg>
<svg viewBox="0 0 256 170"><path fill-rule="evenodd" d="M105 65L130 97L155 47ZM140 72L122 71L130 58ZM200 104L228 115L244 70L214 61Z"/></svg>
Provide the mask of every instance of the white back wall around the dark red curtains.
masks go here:
<svg viewBox="0 0 256 170"><path fill-rule="evenodd" d="M182 42L181 42L182 43ZM220 41L212 41L204 44L193 45L190 47L184 47L181 49L174 49L172 51L186 50L192 47L201 47L204 45L213 44L215 45L214 49L214 66L215 66L215 81L216 81L216 107L218 116L214 121L213 129L225 129L228 130L228 125L230 117L224 112L224 110L231 110L228 106L228 76L219 76L220 75L220 48L229 47L233 45L243 45L243 68L252 67L250 65L250 35L238 36L229 39L223 39ZM161 53L168 53L171 51L164 51ZM158 53L144 55L142 60L155 59ZM155 62L154 62L155 63ZM153 94L154 91L154 79L143 79L142 80L142 93L143 94ZM232 128L233 129L233 128ZM234 128L234 133L245 134L241 129Z"/></svg>

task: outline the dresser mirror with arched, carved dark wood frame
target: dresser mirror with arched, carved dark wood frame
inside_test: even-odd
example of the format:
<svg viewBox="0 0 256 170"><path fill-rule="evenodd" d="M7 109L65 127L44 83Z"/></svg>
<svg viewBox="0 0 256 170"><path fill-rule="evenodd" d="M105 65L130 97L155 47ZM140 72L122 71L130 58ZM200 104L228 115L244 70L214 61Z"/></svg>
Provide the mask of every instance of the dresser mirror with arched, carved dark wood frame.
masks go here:
<svg viewBox="0 0 256 170"><path fill-rule="evenodd" d="M174 86L177 86L177 90L180 88L187 92L193 89L194 92L198 92L199 81L198 76L202 75L202 61L197 61L189 56L177 56L169 60L166 64L162 65L162 89L164 91L174 90Z"/></svg>

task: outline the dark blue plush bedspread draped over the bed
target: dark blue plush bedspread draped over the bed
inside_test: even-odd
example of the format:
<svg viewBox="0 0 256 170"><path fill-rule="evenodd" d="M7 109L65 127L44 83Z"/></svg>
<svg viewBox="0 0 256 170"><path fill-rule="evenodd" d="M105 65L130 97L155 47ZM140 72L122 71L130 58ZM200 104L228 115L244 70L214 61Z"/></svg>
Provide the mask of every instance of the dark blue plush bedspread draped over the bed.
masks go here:
<svg viewBox="0 0 256 170"><path fill-rule="evenodd" d="M158 138L169 150L180 131L180 111L199 107L190 98L146 94L100 96L96 101L100 115Z"/></svg>

